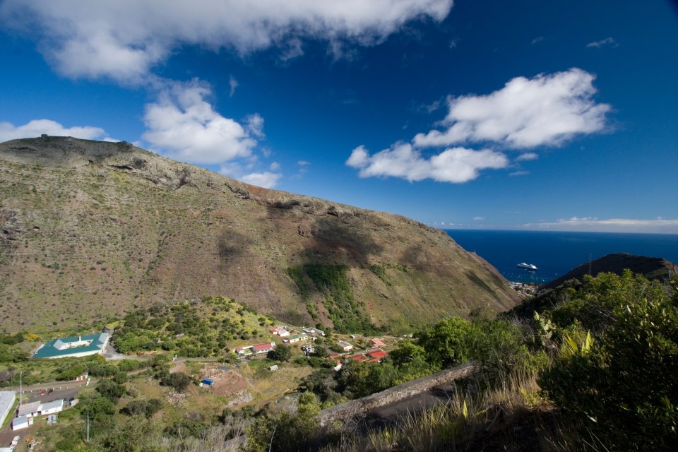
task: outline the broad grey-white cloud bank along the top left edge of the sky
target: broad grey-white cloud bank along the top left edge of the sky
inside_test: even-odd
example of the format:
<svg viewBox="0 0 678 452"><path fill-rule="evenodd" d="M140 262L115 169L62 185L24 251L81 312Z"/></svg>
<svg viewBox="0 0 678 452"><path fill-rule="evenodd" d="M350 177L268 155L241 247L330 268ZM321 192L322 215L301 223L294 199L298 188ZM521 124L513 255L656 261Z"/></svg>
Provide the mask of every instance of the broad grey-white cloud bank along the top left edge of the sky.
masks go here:
<svg viewBox="0 0 678 452"><path fill-rule="evenodd" d="M137 81L184 44L245 54L299 38L376 44L409 20L443 20L453 0L4 0L0 21L41 40L71 77Z"/></svg>

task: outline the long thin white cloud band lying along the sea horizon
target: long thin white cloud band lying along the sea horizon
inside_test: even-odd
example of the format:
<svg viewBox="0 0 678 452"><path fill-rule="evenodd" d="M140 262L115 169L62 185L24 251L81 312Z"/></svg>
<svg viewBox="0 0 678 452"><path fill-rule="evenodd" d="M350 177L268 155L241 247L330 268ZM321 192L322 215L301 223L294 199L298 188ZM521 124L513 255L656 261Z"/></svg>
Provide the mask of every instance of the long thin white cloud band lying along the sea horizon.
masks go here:
<svg viewBox="0 0 678 452"><path fill-rule="evenodd" d="M655 234L678 234L678 220L636 220L629 218L595 217L563 218L555 222L537 222L523 225L529 230L588 231L588 232L643 232Z"/></svg>

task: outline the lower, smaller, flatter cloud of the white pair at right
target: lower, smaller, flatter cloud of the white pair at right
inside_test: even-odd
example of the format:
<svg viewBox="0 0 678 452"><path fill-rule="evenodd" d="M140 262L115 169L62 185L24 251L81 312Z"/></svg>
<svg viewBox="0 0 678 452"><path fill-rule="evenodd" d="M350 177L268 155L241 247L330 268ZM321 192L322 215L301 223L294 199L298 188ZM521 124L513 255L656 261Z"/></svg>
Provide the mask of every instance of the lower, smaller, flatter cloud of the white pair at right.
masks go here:
<svg viewBox="0 0 678 452"><path fill-rule="evenodd" d="M499 169L508 164L504 154L489 149L449 148L424 157L410 143L396 143L374 155L370 155L364 146L359 146L346 161L346 165L360 170L360 177L391 176L410 182L434 179L455 183L476 179L480 169Z"/></svg>

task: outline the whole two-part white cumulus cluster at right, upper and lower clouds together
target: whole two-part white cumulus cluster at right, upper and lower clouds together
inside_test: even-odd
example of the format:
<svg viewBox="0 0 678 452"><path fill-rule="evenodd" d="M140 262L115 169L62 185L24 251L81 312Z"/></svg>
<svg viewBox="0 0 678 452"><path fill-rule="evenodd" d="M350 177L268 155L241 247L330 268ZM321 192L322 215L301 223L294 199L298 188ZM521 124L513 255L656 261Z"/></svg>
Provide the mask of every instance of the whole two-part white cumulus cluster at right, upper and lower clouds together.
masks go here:
<svg viewBox="0 0 678 452"><path fill-rule="evenodd" d="M498 148L525 149L559 145L578 134L602 131L611 107L593 100L593 79L592 74L575 68L535 78L516 77L489 95L448 97L448 114L439 123L443 130L417 133L411 143L396 143L374 155L361 145L352 150L346 165L359 169L360 177L471 181L482 169L508 167L508 157L489 148L448 146L495 143ZM430 157L422 153L440 147L447 148ZM524 152L516 161L537 157ZM524 174L528 172L511 175Z"/></svg>

